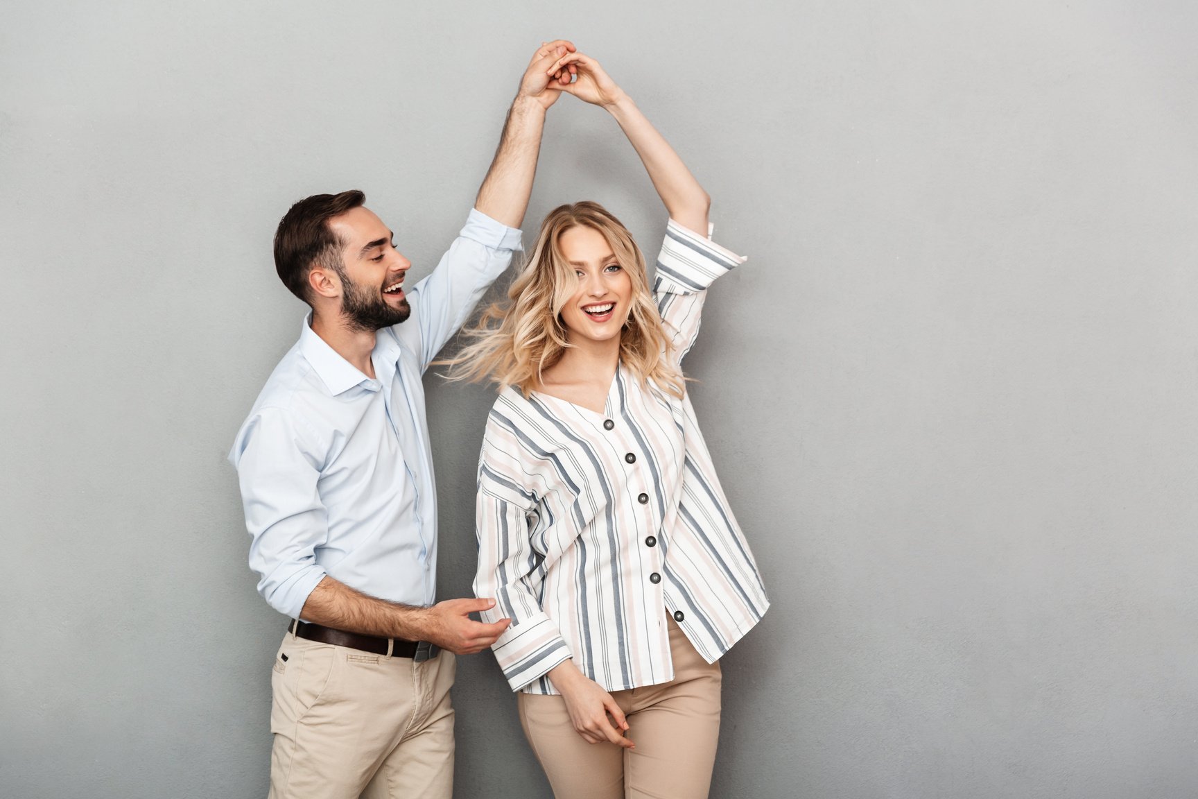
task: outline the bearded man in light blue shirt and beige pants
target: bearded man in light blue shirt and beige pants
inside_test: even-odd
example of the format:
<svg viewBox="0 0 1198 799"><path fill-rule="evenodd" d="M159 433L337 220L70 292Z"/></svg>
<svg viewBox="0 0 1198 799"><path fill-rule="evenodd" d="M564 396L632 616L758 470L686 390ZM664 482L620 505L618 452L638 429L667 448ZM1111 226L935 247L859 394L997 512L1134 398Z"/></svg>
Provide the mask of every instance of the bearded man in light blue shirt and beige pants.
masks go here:
<svg viewBox="0 0 1198 799"><path fill-rule="evenodd" d="M279 223L283 283L311 308L234 443L259 593L292 618L272 676L271 797L453 791L454 656L507 619L436 603L436 497L420 375L520 249L545 111L573 52L543 44L466 226L425 279L361 192Z"/></svg>

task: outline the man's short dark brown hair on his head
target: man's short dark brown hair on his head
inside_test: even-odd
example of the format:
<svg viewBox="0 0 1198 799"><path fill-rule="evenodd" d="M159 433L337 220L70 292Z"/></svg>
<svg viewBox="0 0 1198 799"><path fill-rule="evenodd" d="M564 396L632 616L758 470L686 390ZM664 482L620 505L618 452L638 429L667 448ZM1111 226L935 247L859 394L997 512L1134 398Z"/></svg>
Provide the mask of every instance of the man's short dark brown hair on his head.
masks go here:
<svg viewBox="0 0 1198 799"><path fill-rule="evenodd" d="M313 194L291 206L274 231L274 270L291 293L308 302L308 273L316 264L345 272L341 248L345 247L328 220L367 201L357 189L340 194Z"/></svg>

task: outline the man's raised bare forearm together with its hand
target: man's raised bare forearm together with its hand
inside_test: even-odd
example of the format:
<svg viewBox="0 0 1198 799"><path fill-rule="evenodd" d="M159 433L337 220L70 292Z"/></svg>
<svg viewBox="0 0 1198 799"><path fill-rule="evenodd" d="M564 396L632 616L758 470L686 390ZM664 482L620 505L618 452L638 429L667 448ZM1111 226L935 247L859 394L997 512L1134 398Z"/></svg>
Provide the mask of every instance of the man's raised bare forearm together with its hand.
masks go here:
<svg viewBox="0 0 1198 799"><path fill-rule="evenodd" d="M553 73L549 69L557 59L574 50L573 43L559 38L541 44L533 54L508 110L495 159L478 189L474 207L508 228L519 228L528 208L545 111L561 96L550 84L569 84L573 73L570 67Z"/></svg>

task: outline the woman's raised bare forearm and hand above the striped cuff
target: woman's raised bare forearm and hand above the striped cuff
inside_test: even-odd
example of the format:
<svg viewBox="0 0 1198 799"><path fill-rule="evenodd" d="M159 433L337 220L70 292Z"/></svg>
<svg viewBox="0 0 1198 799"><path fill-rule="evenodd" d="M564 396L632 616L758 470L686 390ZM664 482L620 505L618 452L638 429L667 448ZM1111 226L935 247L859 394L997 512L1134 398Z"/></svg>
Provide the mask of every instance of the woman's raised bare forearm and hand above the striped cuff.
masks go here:
<svg viewBox="0 0 1198 799"><path fill-rule="evenodd" d="M641 157L670 218L706 238L707 212L712 199L670 143L594 59L582 53L567 53L553 62L550 74L570 65L575 67L577 81L565 85L550 83L550 89L569 92L615 116L624 135L633 143L636 155Z"/></svg>

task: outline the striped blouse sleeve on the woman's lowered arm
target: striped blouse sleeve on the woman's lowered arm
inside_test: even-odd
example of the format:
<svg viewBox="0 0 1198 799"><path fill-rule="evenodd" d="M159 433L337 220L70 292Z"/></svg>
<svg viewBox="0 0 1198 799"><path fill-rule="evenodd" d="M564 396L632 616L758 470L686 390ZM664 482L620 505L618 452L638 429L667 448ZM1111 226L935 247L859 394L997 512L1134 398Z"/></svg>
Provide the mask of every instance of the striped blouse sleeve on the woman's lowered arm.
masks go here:
<svg viewBox="0 0 1198 799"><path fill-rule="evenodd" d="M538 600L545 564L532 546L537 498L521 486L518 476L522 471L512 449L494 441L488 429L478 467L474 595L495 598L495 607L480 613L484 622L512 619L491 650L512 690L518 691L568 660L570 649Z"/></svg>

